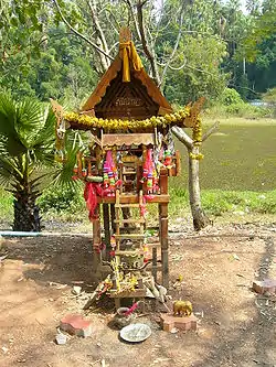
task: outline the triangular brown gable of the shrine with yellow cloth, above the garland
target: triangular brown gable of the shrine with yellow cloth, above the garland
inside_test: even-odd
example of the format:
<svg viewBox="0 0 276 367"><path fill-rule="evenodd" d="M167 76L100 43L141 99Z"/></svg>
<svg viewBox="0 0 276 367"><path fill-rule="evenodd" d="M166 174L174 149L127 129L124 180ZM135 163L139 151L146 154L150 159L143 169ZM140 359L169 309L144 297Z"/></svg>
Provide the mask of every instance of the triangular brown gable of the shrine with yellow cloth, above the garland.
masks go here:
<svg viewBox="0 0 276 367"><path fill-rule="evenodd" d="M104 119L142 120L170 114L172 107L146 73L128 29L120 31L119 52L82 108Z"/></svg>

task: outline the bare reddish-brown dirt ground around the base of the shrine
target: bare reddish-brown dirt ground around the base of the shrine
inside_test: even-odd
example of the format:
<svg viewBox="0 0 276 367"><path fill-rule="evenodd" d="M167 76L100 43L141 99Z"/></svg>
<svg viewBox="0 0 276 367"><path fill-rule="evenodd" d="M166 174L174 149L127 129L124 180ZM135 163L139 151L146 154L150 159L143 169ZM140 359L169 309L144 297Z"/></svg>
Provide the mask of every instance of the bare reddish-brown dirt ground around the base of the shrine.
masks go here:
<svg viewBox="0 0 276 367"><path fill-rule="evenodd" d="M84 314L95 287L88 237L2 239L0 366L276 366L276 295L251 290L255 279L276 279L276 223L214 226L199 235L174 230L169 293L192 302L199 327L167 333L159 314L149 313L137 319L152 331L139 344L123 342L108 326L110 307L86 312L91 337L54 343L60 320ZM74 284L81 296L72 294Z"/></svg>

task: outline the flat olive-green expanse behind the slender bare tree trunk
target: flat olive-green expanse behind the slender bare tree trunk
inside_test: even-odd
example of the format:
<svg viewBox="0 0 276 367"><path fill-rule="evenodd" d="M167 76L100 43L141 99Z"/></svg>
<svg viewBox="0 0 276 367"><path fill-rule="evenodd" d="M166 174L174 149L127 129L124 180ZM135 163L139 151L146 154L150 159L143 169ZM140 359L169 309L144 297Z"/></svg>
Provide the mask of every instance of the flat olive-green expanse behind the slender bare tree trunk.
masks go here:
<svg viewBox="0 0 276 367"><path fill-rule="evenodd" d="M217 119L219 130L202 145L200 163L202 190L276 190L276 119ZM213 122L203 120L206 130ZM171 180L172 187L187 187L187 150L182 152L182 174Z"/></svg>

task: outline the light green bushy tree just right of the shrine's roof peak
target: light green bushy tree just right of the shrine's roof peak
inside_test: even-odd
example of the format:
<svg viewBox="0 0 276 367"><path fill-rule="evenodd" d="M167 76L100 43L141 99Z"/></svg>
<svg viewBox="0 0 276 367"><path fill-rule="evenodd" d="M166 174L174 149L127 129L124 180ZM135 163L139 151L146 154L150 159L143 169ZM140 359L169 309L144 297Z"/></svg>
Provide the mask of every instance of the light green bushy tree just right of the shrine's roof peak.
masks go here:
<svg viewBox="0 0 276 367"><path fill-rule="evenodd" d="M180 105L200 97L216 99L225 88L229 77L217 67L226 55L224 42L213 35L197 34L183 36L181 43L182 53L178 63L182 63L183 67L168 72L166 96Z"/></svg>

